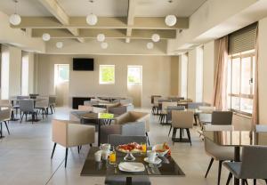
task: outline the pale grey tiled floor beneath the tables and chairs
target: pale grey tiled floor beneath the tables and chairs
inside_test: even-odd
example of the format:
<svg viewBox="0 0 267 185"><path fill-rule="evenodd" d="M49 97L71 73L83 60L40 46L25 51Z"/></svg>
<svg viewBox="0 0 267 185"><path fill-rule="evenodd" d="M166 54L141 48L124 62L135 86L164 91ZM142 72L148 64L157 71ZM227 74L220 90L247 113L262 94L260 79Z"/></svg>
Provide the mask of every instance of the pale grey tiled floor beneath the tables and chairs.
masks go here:
<svg viewBox="0 0 267 185"><path fill-rule="evenodd" d="M11 135L4 127L4 139L0 140L0 184L39 185L39 184L104 184L104 178L81 177L89 147L83 147L80 154L77 148L70 149L68 166L65 169L64 148L57 147L53 160L50 159L53 142L51 141L51 120L68 119L69 109L58 108L54 115L34 123L11 122ZM216 184L217 163L208 178L204 178L209 157L206 156L203 141L199 140L197 128L191 131L192 147L188 143L175 143L167 137L168 126L158 124L158 117L152 117L150 141L152 144L167 141L172 147L172 155L181 166L185 177L150 178L152 184ZM225 184L227 171L223 168L221 184Z"/></svg>

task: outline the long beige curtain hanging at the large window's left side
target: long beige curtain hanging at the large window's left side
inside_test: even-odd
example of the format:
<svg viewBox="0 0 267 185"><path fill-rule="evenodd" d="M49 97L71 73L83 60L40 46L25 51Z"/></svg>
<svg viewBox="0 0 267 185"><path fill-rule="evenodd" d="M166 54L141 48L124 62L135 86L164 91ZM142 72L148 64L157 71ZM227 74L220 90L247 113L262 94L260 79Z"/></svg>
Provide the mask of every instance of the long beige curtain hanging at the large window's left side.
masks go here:
<svg viewBox="0 0 267 185"><path fill-rule="evenodd" d="M228 36L218 39L218 57L214 84L214 107L227 109Z"/></svg>

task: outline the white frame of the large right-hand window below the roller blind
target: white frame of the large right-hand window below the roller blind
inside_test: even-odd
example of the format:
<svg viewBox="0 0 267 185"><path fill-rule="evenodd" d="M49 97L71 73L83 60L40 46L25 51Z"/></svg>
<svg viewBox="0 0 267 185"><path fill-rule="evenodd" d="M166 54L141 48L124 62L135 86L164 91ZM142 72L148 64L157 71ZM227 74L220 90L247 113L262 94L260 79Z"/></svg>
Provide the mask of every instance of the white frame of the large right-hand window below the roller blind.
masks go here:
<svg viewBox="0 0 267 185"><path fill-rule="evenodd" d="M233 59L237 59L239 58L239 65L240 65L240 68L239 68L239 94L237 93L232 93L232 60ZM250 93L249 94L246 94L246 93L242 93L242 59L244 58L250 58L250 79L252 80L252 83L250 83ZM241 99L249 99L249 100L252 100L254 99L254 82L255 82L255 76L254 76L254 70L255 70L255 65L254 65L254 60L255 58L255 50L249 50L249 51L246 51L246 52L239 52L239 53L234 53L234 54L231 54L228 56L228 62L230 61L231 63L231 80L230 80L230 93L227 92L227 97L230 97L229 101L230 101L230 109L231 111L233 112L236 112L240 115L245 115L245 116L249 116L251 117L252 116L252 113L248 113L248 112L245 112L245 111L242 111L241 110ZM228 76L229 77L229 76ZM239 98L239 109L232 109L232 100L231 98L232 97L237 97Z"/></svg>

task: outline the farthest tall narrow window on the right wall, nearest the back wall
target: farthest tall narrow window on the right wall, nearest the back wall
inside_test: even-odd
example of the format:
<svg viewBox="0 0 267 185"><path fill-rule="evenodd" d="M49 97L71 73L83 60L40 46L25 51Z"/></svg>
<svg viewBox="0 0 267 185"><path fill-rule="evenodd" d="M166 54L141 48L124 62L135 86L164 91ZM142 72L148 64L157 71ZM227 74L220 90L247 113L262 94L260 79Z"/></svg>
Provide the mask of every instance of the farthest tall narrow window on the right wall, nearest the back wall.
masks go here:
<svg viewBox="0 0 267 185"><path fill-rule="evenodd" d="M181 96L187 98L187 72L188 72L188 55L182 54L181 65Z"/></svg>

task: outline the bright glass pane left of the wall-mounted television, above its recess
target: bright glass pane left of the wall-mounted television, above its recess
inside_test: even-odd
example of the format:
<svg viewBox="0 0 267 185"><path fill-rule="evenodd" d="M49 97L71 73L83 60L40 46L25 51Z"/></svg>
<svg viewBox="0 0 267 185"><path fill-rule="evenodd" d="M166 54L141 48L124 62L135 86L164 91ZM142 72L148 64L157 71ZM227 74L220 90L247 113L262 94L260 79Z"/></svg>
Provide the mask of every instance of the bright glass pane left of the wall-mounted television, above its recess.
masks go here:
<svg viewBox="0 0 267 185"><path fill-rule="evenodd" d="M54 65L54 84L69 82L69 64Z"/></svg>

